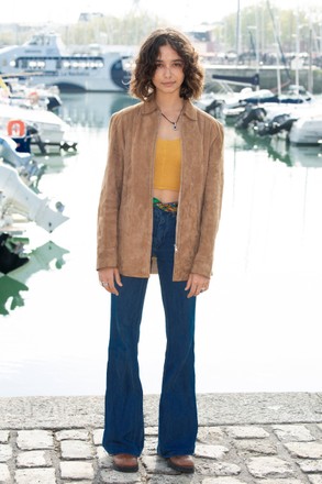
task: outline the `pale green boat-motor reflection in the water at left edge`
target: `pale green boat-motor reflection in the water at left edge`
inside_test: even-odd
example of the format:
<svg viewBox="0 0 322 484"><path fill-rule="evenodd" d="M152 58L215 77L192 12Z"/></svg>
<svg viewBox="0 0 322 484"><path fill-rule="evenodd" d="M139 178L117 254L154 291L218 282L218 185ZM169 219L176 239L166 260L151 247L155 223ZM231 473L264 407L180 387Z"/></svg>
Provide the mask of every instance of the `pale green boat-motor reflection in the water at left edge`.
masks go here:
<svg viewBox="0 0 322 484"><path fill-rule="evenodd" d="M26 282L31 276L41 271L51 271L53 267L60 270L65 264L64 255L69 251L48 241L42 246L24 255L24 263L16 267L16 260L12 261L12 270L3 264L0 274L0 315L7 316L16 307L24 306L21 292L29 290Z"/></svg>

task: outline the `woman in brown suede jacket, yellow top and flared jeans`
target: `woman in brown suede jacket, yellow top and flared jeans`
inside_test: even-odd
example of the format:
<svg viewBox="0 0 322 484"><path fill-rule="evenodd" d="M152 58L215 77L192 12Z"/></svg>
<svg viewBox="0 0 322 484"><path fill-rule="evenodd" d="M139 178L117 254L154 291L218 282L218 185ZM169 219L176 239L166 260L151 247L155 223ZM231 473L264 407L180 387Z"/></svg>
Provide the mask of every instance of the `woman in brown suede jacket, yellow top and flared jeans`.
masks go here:
<svg viewBox="0 0 322 484"><path fill-rule="evenodd" d="M143 450L137 343L149 274L158 272L167 349L158 454L192 473L198 430L196 297L209 288L223 188L223 129L192 105L203 70L190 41L158 29L141 46L130 94L111 118L98 211L99 279L111 294L103 447L118 471Z"/></svg>

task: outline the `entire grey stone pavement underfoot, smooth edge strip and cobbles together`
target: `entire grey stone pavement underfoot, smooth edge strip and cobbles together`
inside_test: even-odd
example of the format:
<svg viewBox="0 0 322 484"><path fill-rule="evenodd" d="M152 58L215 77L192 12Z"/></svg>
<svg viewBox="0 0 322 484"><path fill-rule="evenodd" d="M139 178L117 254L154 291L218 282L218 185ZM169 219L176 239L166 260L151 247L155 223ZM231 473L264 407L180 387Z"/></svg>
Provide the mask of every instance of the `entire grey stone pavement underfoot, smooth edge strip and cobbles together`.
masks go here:
<svg viewBox="0 0 322 484"><path fill-rule="evenodd" d="M145 397L140 472L112 470L103 397L0 398L1 484L322 484L322 394L198 395L196 473L156 455L158 397Z"/></svg>

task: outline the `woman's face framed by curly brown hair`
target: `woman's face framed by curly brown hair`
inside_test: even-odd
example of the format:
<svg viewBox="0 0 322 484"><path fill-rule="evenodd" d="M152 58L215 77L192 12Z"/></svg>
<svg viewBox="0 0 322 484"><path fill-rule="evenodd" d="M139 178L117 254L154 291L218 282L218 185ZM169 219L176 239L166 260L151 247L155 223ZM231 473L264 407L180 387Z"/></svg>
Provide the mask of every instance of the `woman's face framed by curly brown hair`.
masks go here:
<svg viewBox="0 0 322 484"><path fill-rule="evenodd" d="M184 79L184 61L173 47L163 45L159 48L156 69L152 78L156 92L174 94L178 91L179 95Z"/></svg>

